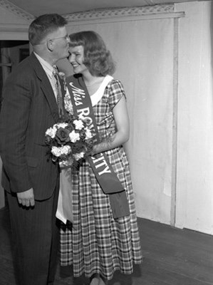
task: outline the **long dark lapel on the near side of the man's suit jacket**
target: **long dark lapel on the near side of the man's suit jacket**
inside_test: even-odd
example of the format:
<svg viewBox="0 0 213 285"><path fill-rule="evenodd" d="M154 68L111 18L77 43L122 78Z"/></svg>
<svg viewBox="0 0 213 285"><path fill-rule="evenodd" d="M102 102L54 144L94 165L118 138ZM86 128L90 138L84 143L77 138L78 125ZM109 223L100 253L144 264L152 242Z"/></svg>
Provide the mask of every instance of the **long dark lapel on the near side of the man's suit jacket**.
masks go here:
<svg viewBox="0 0 213 285"><path fill-rule="evenodd" d="M34 53L31 53L30 60L31 60L34 70L36 71L37 77L41 81L41 90L43 91L43 94L45 95L46 100L48 101L48 105L51 109L53 118L55 122L57 122L59 119L58 105L56 103L56 98L53 93L53 88L51 86L50 81L48 80L48 76L46 75L46 72L43 70L41 63L39 63Z"/></svg>

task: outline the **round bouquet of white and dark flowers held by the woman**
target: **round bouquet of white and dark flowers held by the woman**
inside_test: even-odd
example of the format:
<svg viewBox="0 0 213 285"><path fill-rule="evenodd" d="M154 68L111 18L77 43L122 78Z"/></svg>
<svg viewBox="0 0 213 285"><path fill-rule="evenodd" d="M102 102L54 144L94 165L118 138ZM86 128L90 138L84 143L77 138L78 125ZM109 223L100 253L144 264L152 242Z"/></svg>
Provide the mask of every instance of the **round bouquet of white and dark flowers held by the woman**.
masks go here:
<svg viewBox="0 0 213 285"><path fill-rule="evenodd" d="M61 167L79 165L93 149L93 134L87 122L71 113L48 128L45 135L52 160Z"/></svg>

